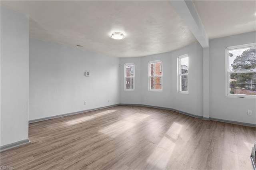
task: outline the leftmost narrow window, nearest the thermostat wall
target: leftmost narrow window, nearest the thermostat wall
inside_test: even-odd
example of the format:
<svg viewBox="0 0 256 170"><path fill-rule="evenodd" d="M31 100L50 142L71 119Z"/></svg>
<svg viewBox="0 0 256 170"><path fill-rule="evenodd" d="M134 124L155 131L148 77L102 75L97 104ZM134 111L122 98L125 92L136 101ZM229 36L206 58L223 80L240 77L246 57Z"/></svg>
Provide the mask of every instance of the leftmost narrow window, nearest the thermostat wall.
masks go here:
<svg viewBox="0 0 256 170"><path fill-rule="evenodd" d="M124 64L124 89L134 90L134 63Z"/></svg>

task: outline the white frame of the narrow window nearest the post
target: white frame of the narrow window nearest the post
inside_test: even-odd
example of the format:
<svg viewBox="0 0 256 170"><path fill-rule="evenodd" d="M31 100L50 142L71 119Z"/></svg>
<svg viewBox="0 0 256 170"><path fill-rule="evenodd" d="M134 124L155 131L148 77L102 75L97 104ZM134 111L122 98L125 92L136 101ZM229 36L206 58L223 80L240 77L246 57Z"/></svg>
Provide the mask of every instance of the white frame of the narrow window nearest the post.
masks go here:
<svg viewBox="0 0 256 170"><path fill-rule="evenodd" d="M177 57L177 65L178 65L178 71L177 71L177 73L178 73L178 76L177 76L177 86L178 86L178 88L177 88L177 91L178 91L178 93L182 93L182 94L188 94L188 91L181 91L181 85L182 85L182 83L181 83L181 76L182 75L187 75L187 77L189 77L188 76L188 73L189 73L189 71L188 71L188 73L186 73L186 74L181 74L181 62L180 62L180 59L182 59L182 58L185 58L185 57L188 57L188 54L184 54L184 55L181 55L181 56L179 56L179 57ZM188 66L189 66L189 57L188 57ZM187 86L188 86L188 84L187 84ZM188 86L189 87L189 86ZM187 89L188 89L188 87L187 87Z"/></svg>

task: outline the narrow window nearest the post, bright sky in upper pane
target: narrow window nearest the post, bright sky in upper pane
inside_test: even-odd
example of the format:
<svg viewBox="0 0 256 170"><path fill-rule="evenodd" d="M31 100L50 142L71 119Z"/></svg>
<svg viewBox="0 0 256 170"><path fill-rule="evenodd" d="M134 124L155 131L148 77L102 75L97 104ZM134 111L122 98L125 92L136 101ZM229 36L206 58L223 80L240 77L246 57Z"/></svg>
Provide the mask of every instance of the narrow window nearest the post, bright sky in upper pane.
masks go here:
<svg viewBox="0 0 256 170"><path fill-rule="evenodd" d="M188 54L178 57L178 92L188 93Z"/></svg>

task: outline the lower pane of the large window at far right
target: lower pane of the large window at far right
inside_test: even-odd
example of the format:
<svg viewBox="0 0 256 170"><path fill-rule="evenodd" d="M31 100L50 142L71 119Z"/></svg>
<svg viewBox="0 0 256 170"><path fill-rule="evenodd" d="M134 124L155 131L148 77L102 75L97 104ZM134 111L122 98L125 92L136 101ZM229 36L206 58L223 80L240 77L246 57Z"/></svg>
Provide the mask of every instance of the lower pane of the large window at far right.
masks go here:
<svg viewBox="0 0 256 170"><path fill-rule="evenodd" d="M231 73L229 94L256 95L256 73Z"/></svg>

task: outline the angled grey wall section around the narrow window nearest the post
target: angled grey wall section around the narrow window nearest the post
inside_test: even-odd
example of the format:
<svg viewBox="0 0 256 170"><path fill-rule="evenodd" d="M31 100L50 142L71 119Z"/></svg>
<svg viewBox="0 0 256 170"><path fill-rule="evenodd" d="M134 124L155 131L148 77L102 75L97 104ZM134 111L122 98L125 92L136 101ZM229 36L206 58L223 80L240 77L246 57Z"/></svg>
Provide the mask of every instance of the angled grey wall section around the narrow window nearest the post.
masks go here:
<svg viewBox="0 0 256 170"><path fill-rule="evenodd" d="M177 93L177 56L188 54L188 95ZM203 49L193 43L172 52L172 108L203 116Z"/></svg>

